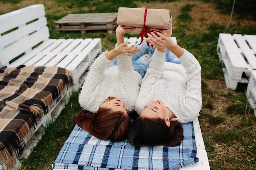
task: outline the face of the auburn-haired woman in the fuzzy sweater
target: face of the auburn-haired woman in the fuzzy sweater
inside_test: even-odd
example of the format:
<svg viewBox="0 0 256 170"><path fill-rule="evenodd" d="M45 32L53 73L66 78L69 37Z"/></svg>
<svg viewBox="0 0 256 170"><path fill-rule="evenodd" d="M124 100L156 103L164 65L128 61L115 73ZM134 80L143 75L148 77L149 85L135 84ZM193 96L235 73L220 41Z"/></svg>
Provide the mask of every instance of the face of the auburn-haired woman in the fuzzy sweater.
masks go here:
<svg viewBox="0 0 256 170"><path fill-rule="evenodd" d="M109 101L102 102L102 107L111 108L113 111L121 111L128 115L124 102L117 98L111 98Z"/></svg>

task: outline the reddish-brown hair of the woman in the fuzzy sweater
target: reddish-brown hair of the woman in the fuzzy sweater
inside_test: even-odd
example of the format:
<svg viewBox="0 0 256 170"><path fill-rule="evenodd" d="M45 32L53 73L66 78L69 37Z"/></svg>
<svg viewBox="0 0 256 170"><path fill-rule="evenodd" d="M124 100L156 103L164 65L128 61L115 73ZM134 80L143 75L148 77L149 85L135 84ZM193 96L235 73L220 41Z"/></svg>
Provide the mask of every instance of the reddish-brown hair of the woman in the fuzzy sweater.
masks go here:
<svg viewBox="0 0 256 170"><path fill-rule="evenodd" d="M131 119L121 111L99 108L96 114L81 110L73 122L99 139L121 141L127 137Z"/></svg>

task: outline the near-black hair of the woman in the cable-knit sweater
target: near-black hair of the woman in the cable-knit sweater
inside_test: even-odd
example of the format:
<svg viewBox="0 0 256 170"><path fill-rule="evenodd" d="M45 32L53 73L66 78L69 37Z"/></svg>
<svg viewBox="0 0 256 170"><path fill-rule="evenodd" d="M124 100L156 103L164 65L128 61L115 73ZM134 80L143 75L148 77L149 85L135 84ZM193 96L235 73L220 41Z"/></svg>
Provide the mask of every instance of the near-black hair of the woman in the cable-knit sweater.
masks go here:
<svg viewBox="0 0 256 170"><path fill-rule="evenodd" d="M128 141L133 146L176 146L183 140L183 128L179 121L170 121L166 126L160 118L138 117L132 121Z"/></svg>

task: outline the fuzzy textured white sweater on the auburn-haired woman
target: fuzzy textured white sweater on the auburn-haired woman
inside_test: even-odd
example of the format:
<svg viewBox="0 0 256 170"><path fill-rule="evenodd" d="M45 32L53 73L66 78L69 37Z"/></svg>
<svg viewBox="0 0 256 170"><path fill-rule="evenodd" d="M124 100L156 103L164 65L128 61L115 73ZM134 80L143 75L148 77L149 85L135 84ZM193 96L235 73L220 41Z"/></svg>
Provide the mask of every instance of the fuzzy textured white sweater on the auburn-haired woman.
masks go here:
<svg viewBox="0 0 256 170"><path fill-rule="evenodd" d="M141 76L133 70L131 58L126 55L118 56L118 66L104 71L112 62L106 59L106 52L101 53L90 66L79 94L79 104L96 113L108 97L116 97L124 102L128 112L132 111L139 93Z"/></svg>

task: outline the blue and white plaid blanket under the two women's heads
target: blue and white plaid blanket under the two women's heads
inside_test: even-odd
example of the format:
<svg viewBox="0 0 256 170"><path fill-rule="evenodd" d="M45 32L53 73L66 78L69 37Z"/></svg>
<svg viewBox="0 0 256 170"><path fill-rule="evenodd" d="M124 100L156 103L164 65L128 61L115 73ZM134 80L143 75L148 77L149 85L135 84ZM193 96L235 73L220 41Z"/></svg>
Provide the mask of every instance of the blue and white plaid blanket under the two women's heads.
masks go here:
<svg viewBox="0 0 256 170"><path fill-rule="evenodd" d="M175 147L134 147L127 140L100 140L75 126L53 169L169 170L198 162L193 122L182 124L184 139Z"/></svg>

